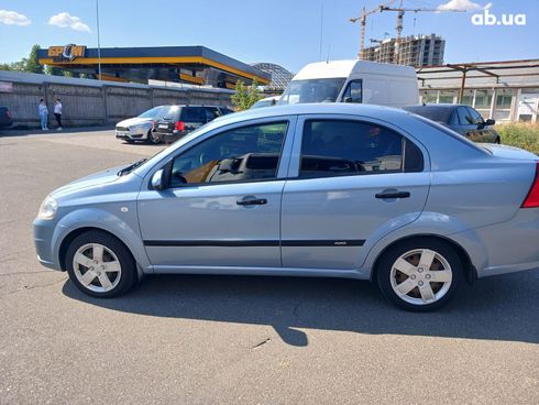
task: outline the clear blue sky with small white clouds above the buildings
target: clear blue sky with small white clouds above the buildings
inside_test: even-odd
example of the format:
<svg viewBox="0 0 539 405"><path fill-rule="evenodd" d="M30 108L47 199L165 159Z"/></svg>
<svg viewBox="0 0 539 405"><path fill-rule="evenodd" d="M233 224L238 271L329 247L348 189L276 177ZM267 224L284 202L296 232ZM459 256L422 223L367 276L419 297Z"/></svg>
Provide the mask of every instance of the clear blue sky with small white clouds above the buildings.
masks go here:
<svg viewBox="0 0 539 405"><path fill-rule="evenodd" d="M292 72L308 63L351 59L360 24L349 19L387 0L99 0L101 47L204 45L241 62L272 62ZM399 0L394 2L398 7ZM464 8L407 12L404 35L446 39L446 63L539 58L537 0L404 0L405 8ZM448 4L449 3L449 4ZM442 6L446 4L446 6ZM485 11L486 10L486 11ZM525 14L520 24L477 25L474 14ZM514 18L515 19L515 18ZM395 35L395 12L366 21L366 42ZM480 22L475 17L475 22ZM97 46L96 0L0 0L0 63L42 47ZM321 52L320 52L321 48Z"/></svg>

